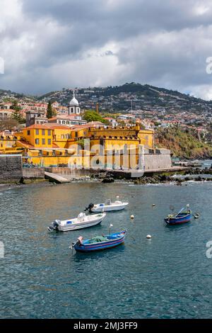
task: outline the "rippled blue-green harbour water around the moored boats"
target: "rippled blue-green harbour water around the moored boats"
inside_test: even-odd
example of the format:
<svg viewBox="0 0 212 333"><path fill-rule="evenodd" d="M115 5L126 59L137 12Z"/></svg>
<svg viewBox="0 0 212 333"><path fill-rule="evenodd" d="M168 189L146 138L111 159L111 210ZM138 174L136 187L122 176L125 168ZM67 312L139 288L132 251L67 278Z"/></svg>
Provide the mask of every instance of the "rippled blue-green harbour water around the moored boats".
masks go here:
<svg viewBox="0 0 212 333"><path fill-rule="evenodd" d="M1 193L1 318L212 317L212 259L206 257L211 182L42 184ZM116 195L127 199L129 208L108 213L102 225L47 232L52 220L73 217L90 202ZM186 203L201 218L165 226L169 206L177 210ZM102 235L110 223L114 232L126 227L124 245L93 254L69 250L79 235Z"/></svg>

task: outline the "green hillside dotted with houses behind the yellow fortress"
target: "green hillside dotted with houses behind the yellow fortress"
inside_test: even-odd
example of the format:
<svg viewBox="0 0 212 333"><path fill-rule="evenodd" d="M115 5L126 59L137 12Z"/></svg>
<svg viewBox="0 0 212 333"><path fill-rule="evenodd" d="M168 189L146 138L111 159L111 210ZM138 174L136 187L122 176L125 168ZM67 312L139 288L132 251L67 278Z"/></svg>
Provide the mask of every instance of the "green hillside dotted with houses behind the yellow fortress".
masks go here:
<svg viewBox="0 0 212 333"><path fill-rule="evenodd" d="M138 84L119 87L74 89L81 103L81 113L93 110L102 115L108 125L141 123L146 129L170 128L194 130L201 140L211 143L212 103L180 94L177 91ZM142 94L143 90L143 94ZM51 103L57 121L62 125L84 125L83 117L71 115L67 120L73 89L62 89L40 97L23 96L11 91L0 91L0 123L13 118L13 102L17 101L25 123L29 111L40 114L41 123L47 122L48 103ZM1 126L2 128L2 126Z"/></svg>

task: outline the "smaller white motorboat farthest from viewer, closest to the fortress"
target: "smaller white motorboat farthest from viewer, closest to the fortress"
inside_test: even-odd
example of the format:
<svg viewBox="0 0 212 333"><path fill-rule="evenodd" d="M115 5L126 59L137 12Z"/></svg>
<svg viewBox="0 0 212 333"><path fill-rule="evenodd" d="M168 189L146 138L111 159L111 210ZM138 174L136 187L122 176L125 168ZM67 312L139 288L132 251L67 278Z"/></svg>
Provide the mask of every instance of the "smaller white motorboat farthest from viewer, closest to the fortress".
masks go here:
<svg viewBox="0 0 212 333"><path fill-rule="evenodd" d="M90 213L97 213L97 212L112 212L114 210L122 210L126 208L129 203L123 203L122 201L112 201L108 199L106 203L90 203L85 210L89 210Z"/></svg>

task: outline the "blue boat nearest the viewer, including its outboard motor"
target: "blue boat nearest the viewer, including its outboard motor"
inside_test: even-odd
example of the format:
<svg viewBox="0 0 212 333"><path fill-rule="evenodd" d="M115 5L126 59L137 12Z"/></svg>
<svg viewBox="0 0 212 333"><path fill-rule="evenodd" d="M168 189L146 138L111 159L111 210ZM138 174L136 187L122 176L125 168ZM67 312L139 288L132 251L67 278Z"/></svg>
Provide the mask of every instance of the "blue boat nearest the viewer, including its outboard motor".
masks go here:
<svg viewBox="0 0 212 333"><path fill-rule="evenodd" d="M93 252L102 249L110 249L124 243L126 230L109 234L105 236L95 236L90 239L83 240L83 237L78 237L76 243L73 243L69 249L76 249L79 252Z"/></svg>

